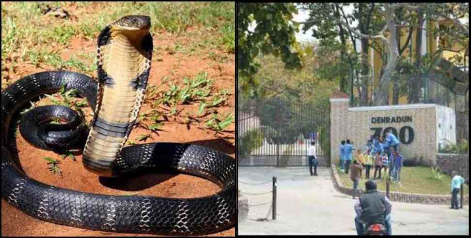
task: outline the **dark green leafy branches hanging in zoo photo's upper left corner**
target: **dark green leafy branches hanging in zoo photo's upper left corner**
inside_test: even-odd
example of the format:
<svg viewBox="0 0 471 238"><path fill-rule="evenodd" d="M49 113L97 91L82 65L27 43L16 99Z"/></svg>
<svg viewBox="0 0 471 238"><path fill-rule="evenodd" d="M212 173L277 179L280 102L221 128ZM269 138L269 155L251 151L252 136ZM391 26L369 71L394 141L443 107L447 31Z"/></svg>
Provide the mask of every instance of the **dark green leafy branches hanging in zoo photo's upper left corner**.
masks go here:
<svg viewBox="0 0 471 238"><path fill-rule="evenodd" d="M256 97L249 89L256 87L251 75L260 67L254 61L259 53L281 57L286 69L301 67L295 38L298 25L290 23L297 13L292 3L237 3L237 80L240 89L247 90L241 93ZM256 24L254 30L251 24Z"/></svg>

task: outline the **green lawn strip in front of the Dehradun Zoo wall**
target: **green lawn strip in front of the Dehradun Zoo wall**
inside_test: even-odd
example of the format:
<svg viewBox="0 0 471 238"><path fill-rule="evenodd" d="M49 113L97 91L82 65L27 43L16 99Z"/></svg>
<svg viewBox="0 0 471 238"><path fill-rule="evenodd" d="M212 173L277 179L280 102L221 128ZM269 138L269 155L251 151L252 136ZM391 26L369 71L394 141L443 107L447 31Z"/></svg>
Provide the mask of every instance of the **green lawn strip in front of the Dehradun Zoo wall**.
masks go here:
<svg viewBox="0 0 471 238"><path fill-rule="evenodd" d="M353 182L348 175L340 171L340 167L337 168L337 173L340 179L344 183L344 186L353 188ZM384 170L382 171L384 172ZM388 170L389 172L389 170ZM370 170L370 178L373 178L375 173L374 168ZM365 189L365 169L362 172L362 178L358 184L359 188ZM424 194L451 194L451 178L448 175L442 174L441 179L432 178L431 168L429 167L403 167L401 170L401 185L397 183L390 183L391 192L401 193L424 193ZM386 180L384 173L381 173L381 179L374 179L377 183L378 190L386 191ZM469 188L464 185L465 194L469 193Z"/></svg>

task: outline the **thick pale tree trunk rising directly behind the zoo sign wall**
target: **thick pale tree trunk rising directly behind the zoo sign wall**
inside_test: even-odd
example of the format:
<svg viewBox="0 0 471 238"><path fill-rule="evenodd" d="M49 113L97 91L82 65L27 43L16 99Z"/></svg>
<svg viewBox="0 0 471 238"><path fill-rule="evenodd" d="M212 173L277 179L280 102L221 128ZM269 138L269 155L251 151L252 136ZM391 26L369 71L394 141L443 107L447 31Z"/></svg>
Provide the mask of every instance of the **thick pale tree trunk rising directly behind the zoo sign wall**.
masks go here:
<svg viewBox="0 0 471 238"><path fill-rule="evenodd" d="M399 58L399 49L397 47L396 41L396 34L397 28L394 22L394 10L386 3L386 20L389 29L389 36L388 36L388 64L386 65L386 69L384 70L384 74L381 76L381 80L379 82L379 88L376 90L376 98L373 105L387 105L388 104L388 89L389 84L391 82L391 77L393 76L393 72L396 69L397 59Z"/></svg>

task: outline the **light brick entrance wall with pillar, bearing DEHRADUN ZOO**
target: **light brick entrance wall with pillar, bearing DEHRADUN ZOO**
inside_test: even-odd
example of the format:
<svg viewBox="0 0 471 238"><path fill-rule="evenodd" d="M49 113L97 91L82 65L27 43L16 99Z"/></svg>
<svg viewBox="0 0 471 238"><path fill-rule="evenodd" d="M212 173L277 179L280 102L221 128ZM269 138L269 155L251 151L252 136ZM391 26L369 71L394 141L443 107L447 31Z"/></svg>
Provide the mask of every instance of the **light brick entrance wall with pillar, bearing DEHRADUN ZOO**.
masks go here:
<svg viewBox="0 0 471 238"><path fill-rule="evenodd" d="M444 115L444 113L447 113ZM440 115L439 115L440 114ZM436 163L439 140L456 141L454 111L437 104L349 107L349 99L330 99L331 162L339 161L342 140L350 139L355 149L365 151L372 134L383 136L393 130L400 141L399 151L405 160L424 165Z"/></svg>

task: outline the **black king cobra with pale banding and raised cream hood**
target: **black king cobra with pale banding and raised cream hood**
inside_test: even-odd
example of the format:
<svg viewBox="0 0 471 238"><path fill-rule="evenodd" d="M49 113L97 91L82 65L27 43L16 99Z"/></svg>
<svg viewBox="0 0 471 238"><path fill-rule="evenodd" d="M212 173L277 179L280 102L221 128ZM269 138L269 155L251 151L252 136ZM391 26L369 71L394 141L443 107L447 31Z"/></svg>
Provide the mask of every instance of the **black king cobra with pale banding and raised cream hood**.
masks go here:
<svg viewBox="0 0 471 238"><path fill-rule="evenodd" d="M189 144L124 147L149 76L153 47L149 29L150 17L129 15L101 31L97 41L98 82L84 74L49 71L25 76L2 91L2 199L32 217L91 230L203 235L235 225L234 159ZM86 126L83 129L84 123L77 120L80 116L76 113L71 116L69 108L57 105L34 108L20 121L21 135L33 146L54 150L77 144L81 138L84 167L102 177L166 169L208 179L218 184L221 191L188 199L103 195L50 186L29 178L14 149L14 115L31 100L61 88L77 89L80 97L88 99L94 110L90 129ZM67 123L44 124L58 117ZM71 130L71 124L82 129ZM51 126L57 131L50 131ZM88 137L74 133L77 130L89 130Z"/></svg>

